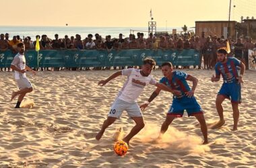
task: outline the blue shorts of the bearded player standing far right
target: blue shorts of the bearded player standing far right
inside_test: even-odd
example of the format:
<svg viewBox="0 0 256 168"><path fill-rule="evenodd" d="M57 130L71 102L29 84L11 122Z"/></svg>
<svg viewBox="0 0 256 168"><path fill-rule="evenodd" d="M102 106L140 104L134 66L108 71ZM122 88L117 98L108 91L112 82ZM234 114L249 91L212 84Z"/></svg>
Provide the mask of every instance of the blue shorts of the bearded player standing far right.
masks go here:
<svg viewBox="0 0 256 168"><path fill-rule="evenodd" d="M223 83L218 95L231 99L232 103L241 103L241 84L237 82Z"/></svg>

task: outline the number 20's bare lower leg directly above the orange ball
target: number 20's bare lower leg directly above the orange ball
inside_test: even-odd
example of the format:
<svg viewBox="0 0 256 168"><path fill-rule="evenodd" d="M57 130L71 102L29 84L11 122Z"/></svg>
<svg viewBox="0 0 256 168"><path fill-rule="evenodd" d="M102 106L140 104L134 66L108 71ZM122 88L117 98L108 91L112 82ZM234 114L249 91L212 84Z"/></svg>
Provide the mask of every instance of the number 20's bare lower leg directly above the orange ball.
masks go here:
<svg viewBox="0 0 256 168"><path fill-rule="evenodd" d="M131 132L123 138L123 141L127 142L128 145L131 138L133 138L133 136L135 136L145 126L143 117L133 117L132 119L135 121L136 125L131 129Z"/></svg>

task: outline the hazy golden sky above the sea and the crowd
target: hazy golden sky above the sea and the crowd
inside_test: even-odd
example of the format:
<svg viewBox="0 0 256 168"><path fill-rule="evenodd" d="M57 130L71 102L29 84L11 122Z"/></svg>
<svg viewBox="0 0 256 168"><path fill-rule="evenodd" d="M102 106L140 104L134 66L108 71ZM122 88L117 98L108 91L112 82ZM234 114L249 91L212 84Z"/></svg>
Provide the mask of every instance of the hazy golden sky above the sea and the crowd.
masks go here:
<svg viewBox="0 0 256 168"><path fill-rule="evenodd" d="M228 20L229 2L230 0L1 0L0 26L68 24L88 27L147 27L152 9L158 27L181 27L185 24L193 27L195 21ZM256 0L233 0L231 20L240 17L242 5L256 5ZM248 15L252 13L256 17L256 7L253 8L253 11L249 8Z"/></svg>

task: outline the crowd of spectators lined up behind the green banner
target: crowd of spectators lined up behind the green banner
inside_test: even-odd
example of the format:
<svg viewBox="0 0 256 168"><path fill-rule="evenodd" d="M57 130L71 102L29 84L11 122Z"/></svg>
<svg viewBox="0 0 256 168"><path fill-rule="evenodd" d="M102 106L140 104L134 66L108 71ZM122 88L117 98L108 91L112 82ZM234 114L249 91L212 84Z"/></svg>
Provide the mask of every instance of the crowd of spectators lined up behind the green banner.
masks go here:
<svg viewBox="0 0 256 168"><path fill-rule="evenodd" d="M119 38L112 38L110 35L102 38L100 34L88 34L82 39L82 36L76 34L75 36L65 35L64 38L59 38L55 34L55 39L49 38L46 34L36 38L39 39L40 50L127 50L127 49L153 49L153 50L184 50L195 49L201 52L203 60L203 67L199 69L213 69L216 64L216 51L218 48L226 47L227 42L230 44L231 52L229 56L235 56L239 60L245 62L248 68L248 50L256 48L256 43L253 44L251 38L238 38L237 40L224 36L207 36L202 32L201 36L193 36L191 34L166 34L157 38L150 33L148 38L145 38L143 33L138 32L129 34L129 38L123 38L123 34L119 34ZM9 39L9 34L0 35L0 51L7 49L17 52L17 44L23 42L26 50L34 50L36 46L36 39L32 40L30 36L23 39L20 36L13 36ZM123 68L123 67L122 67ZM183 67L186 68L186 67ZM87 68L88 70L88 68Z"/></svg>

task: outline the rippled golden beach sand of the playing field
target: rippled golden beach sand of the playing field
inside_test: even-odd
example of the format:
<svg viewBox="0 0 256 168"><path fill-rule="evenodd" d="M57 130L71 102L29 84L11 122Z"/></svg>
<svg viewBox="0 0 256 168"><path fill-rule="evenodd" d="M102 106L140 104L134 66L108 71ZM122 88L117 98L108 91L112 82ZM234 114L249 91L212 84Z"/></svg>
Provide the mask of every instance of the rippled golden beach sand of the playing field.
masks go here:
<svg viewBox="0 0 256 168"><path fill-rule="evenodd" d="M237 131L232 131L232 107L226 99L226 124L208 130L210 144L201 145L199 124L186 112L183 118L174 120L160 142L155 142L172 101L170 93L161 91L143 111L146 126L131 140L125 157L113 152L113 136L120 127L124 134L133 127L126 112L100 141L94 138L125 82L125 77L118 77L104 87L97 85L114 72L28 73L34 91L25 98L28 107L22 109L13 108L17 97L9 101L11 91L17 89L13 73L0 72L0 167L255 167L255 71L246 71L244 76ZM207 123L215 122L215 98L222 81L210 81L214 71L185 72L199 79L195 97ZM152 75L159 80L162 72L157 70ZM148 100L154 89L146 87L138 102Z"/></svg>

